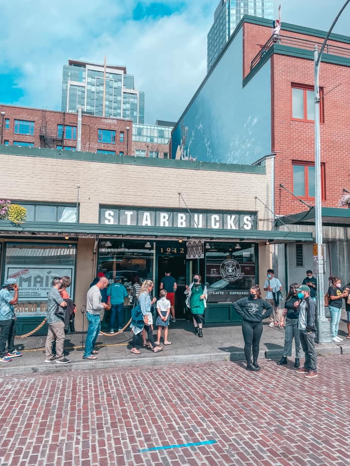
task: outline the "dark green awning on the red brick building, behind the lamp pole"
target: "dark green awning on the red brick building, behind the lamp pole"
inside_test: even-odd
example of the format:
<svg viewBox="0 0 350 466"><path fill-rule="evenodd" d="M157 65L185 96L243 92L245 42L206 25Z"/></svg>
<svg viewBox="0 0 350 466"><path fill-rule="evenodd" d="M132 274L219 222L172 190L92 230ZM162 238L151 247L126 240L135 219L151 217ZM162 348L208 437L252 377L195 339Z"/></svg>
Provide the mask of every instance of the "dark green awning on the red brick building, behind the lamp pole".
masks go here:
<svg viewBox="0 0 350 466"><path fill-rule="evenodd" d="M315 207L298 214L282 216L276 220L276 227L291 224L315 225ZM350 209L322 207L322 225L350 227Z"/></svg>

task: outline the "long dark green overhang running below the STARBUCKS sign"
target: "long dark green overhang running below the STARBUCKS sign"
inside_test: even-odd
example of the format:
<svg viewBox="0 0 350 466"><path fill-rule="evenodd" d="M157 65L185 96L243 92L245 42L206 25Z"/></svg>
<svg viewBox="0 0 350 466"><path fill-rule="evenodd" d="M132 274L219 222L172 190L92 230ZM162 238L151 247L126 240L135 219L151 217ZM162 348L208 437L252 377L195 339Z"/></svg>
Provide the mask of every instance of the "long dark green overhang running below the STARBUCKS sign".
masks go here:
<svg viewBox="0 0 350 466"><path fill-rule="evenodd" d="M136 225L103 225L95 223L46 223L24 222L14 225L7 220L0 220L0 236L16 238L71 238L95 237L99 238L140 238L140 239L178 239L202 238L207 241L255 241L255 242L303 242L312 241L312 233L282 232L264 230L214 230L206 228L169 228L169 227L140 227Z"/></svg>

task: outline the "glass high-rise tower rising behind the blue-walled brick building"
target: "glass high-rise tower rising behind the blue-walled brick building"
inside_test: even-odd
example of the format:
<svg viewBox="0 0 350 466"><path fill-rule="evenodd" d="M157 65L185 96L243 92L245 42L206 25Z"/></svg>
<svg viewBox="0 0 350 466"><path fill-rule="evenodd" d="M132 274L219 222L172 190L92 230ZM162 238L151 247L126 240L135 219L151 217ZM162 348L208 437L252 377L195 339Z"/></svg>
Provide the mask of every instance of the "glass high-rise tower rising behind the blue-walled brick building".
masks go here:
<svg viewBox="0 0 350 466"><path fill-rule="evenodd" d="M208 33L207 71L225 47L243 15L273 19L273 0L220 0Z"/></svg>

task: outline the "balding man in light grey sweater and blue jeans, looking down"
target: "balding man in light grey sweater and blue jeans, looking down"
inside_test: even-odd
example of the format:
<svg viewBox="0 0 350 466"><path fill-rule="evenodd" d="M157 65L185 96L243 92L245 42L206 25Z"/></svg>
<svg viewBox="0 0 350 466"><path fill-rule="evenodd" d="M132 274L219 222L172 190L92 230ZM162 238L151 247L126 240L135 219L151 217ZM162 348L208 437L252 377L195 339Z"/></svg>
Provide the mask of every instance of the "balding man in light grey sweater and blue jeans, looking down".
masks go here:
<svg viewBox="0 0 350 466"><path fill-rule="evenodd" d="M87 293L86 316L88 319L88 334L83 359L97 359L95 354L97 354L98 351L94 350L94 346L101 329L101 311L108 306L101 300L101 290L107 286L108 279L106 277L101 277L95 285L91 286Z"/></svg>

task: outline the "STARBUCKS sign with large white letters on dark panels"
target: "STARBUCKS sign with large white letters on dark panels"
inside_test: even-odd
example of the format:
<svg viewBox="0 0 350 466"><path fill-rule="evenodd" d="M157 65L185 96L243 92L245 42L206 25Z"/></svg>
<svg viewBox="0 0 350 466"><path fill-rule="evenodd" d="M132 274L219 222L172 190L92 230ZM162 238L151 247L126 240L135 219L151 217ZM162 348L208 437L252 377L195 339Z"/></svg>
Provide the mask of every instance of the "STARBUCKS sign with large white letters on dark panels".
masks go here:
<svg viewBox="0 0 350 466"><path fill-rule="evenodd" d="M100 223L139 227L256 230L256 213L100 207Z"/></svg>

